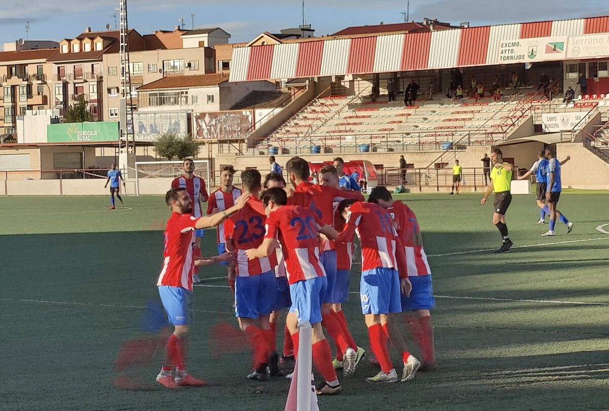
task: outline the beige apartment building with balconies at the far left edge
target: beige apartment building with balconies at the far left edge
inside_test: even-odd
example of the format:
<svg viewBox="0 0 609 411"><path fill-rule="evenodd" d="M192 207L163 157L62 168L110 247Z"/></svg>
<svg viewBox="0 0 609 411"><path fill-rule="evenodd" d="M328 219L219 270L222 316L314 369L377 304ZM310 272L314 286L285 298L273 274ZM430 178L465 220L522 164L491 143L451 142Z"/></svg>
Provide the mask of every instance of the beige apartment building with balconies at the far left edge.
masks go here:
<svg viewBox="0 0 609 411"><path fill-rule="evenodd" d="M0 52L0 135L15 135L16 117L26 110L51 108L52 64L48 58L56 52L55 48Z"/></svg>

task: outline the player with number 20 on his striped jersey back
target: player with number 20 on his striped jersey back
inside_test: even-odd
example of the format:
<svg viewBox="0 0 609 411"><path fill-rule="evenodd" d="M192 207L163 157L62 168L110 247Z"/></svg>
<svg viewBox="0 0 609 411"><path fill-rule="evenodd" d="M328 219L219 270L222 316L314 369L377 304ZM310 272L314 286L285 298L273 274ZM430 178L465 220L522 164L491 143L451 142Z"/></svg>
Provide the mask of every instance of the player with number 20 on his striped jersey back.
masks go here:
<svg viewBox="0 0 609 411"><path fill-rule="evenodd" d="M266 206L267 233L258 248L245 251L247 258L269 256L278 243L286 259L287 281L290 284L292 306L286 324L292 334L294 356L298 357L298 323L311 323L313 363L325 381L317 387L318 395L340 392L339 380L332 365L330 346L323 335L322 298L325 293L326 275L319 261L319 238L323 233L336 238L336 230L320 225L319 218L309 209L287 205L283 189L271 188L262 193Z"/></svg>

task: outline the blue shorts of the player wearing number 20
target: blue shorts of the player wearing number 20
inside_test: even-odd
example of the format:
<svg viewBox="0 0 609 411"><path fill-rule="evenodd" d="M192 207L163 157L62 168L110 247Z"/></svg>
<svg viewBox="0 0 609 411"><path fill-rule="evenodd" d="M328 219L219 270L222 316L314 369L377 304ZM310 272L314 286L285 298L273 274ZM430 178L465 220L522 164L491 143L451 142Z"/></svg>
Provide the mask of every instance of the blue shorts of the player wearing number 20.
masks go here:
<svg viewBox="0 0 609 411"><path fill-rule="evenodd" d="M290 298L298 324L309 321L311 325L322 322L322 301L326 292L325 277L315 277L290 284Z"/></svg>

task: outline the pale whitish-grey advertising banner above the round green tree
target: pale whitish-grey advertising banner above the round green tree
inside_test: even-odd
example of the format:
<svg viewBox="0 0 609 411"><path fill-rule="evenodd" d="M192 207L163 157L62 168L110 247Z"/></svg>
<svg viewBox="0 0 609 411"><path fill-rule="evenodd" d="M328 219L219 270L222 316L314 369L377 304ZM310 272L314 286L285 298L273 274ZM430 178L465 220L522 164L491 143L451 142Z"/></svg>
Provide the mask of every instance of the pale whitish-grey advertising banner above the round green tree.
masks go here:
<svg viewBox="0 0 609 411"><path fill-rule="evenodd" d="M134 112L136 141L157 141L164 133L180 137L188 134L187 111L164 111L157 113Z"/></svg>

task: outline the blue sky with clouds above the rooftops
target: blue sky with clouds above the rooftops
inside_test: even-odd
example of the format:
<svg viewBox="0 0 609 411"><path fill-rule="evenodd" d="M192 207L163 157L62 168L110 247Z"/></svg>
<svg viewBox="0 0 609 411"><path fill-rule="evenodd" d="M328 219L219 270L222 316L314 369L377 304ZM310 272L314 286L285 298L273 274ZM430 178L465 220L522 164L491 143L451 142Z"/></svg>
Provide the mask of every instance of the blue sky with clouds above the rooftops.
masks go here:
<svg viewBox="0 0 609 411"><path fill-rule="evenodd" d="M9 4L10 3L10 4ZM26 38L61 40L82 33L85 27L103 30L114 27L118 0L26 0L0 1L0 42ZM301 0L128 0L129 26L142 34L156 29L171 30L178 19L190 28L222 27L231 33L231 42L249 41L263 31L279 32L301 23ZM399 23L406 1L394 0L305 0L307 23L317 35L337 32L348 26ZM609 15L607 0L410 0L410 19L424 17L473 26L517 23L545 19L568 19Z"/></svg>

